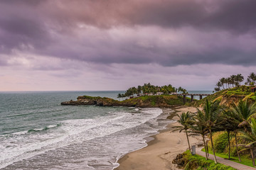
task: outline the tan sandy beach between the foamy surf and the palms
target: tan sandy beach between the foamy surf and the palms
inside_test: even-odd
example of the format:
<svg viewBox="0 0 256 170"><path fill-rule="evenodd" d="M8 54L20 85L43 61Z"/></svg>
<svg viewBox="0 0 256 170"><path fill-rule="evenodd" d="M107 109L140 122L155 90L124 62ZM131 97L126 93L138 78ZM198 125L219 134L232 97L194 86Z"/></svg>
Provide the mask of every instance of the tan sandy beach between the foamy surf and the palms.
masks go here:
<svg viewBox="0 0 256 170"><path fill-rule="evenodd" d="M174 110L178 114L187 111L196 112L196 108L186 106L176 107ZM174 116L172 119L177 120L177 118L177 116ZM148 142L147 147L124 155L118 161L119 166L117 170L177 169L176 165L171 162L177 154L181 154L188 149L188 142L184 132L172 132L176 125L178 123L171 123L167 126L166 130L162 130L159 134L154 135L154 140ZM189 140L191 145L201 142L198 140L198 137L190 137Z"/></svg>

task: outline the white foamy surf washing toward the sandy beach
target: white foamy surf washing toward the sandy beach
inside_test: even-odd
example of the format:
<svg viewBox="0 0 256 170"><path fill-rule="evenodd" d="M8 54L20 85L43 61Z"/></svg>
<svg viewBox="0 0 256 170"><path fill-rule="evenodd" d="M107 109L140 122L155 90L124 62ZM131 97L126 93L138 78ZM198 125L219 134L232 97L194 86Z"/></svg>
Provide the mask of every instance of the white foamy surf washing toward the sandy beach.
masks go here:
<svg viewBox="0 0 256 170"><path fill-rule="evenodd" d="M52 169L112 169L118 166L122 154L145 147L143 138L163 128L156 121L161 113L159 108L134 108L96 118L63 120L59 127L48 125L48 131L38 128L34 130L40 132L20 132L1 140L0 168L40 167L47 159ZM55 162L63 166L58 168Z"/></svg>

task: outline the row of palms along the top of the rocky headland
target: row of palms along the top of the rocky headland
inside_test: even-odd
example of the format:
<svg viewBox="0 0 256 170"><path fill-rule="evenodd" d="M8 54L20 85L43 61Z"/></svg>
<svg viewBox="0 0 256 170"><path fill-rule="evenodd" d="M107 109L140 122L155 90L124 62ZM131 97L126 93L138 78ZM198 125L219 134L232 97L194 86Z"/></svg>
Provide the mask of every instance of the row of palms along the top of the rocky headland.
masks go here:
<svg viewBox="0 0 256 170"><path fill-rule="evenodd" d="M162 92L162 94L171 94L171 93L181 93L188 94L186 89L183 89L181 86L176 88L171 84L165 86L154 86L150 83L144 84L143 86L133 86L127 89L124 94L118 94L117 98L128 98L129 96L145 96L149 94L156 95L157 92Z"/></svg>

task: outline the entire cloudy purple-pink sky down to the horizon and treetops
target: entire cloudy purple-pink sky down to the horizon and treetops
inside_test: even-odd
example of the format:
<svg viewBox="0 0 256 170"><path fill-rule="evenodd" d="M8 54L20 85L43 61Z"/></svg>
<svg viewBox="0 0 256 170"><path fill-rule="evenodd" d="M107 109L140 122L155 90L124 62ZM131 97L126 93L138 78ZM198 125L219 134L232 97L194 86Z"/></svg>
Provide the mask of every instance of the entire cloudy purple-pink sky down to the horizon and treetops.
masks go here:
<svg viewBox="0 0 256 170"><path fill-rule="evenodd" d="M0 0L0 91L213 90L256 72L255 0Z"/></svg>

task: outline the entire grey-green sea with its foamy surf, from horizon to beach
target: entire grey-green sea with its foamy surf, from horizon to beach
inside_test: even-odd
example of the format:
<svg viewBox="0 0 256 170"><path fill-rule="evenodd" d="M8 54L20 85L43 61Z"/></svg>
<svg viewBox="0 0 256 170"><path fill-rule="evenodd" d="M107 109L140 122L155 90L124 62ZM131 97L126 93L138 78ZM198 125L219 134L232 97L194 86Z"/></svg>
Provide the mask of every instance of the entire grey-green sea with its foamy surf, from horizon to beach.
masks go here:
<svg viewBox="0 0 256 170"><path fill-rule="evenodd" d="M117 94L123 92L0 92L0 169L118 166L117 160L122 155L145 147L145 137L155 135L171 123L166 120L168 115L160 108L61 106L60 103L83 95L117 99Z"/></svg>

